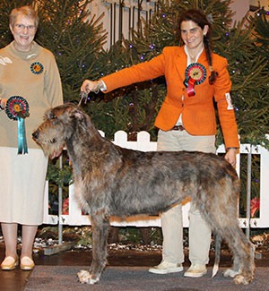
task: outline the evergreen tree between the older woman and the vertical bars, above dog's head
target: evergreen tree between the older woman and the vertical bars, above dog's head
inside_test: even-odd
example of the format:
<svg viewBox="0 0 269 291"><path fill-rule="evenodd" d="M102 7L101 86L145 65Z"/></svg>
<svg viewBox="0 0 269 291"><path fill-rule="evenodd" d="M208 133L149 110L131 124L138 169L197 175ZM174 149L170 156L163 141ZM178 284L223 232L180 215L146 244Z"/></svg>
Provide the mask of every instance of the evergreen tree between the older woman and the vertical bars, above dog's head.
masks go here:
<svg viewBox="0 0 269 291"><path fill-rule="evenodd" d="M65 101L78 103L84 76L97 78L103 63L106 35L101 18L91 15L91 1L38 1L39 31L36 40L56 56ZM101 65L102 64L102 65Z"/></svg>

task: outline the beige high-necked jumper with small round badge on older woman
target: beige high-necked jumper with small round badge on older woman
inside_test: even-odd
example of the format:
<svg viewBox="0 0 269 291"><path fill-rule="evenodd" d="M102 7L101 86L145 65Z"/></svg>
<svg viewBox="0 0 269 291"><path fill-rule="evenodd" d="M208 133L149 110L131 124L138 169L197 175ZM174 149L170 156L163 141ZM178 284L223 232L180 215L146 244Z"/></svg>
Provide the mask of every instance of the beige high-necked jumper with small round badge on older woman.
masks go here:
<svg viewBox="0 0 269 291"><path fill-rule="evenodd" d="M36 66L35 66L36 64ZM60 75L53 54L36 42L28 52L14 42L0 49L0 98L21 96L29 103L25 119L28 148L39 149L31 133L43 121L44 112L63 103ZM0 110L0 147L18 146L17 122Z"/></svg>

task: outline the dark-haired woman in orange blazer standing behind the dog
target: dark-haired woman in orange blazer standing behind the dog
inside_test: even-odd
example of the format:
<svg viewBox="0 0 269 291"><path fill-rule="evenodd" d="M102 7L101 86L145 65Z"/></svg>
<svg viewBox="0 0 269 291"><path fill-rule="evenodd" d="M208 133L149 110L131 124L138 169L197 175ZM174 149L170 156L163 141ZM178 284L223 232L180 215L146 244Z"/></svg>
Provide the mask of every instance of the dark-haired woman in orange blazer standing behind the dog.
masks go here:
<svg viewBox="0 0 269 291"><path fill-rule="evenodd" d="M99 81L85 80L84 92L105 93L134 82L165 76L167 96L155 120L160 129L158 150L199 150L215 152L216 120L213 98L217 103L221 130L227 149L225 158L236 164L239 139L230 100L230 75L227 60L212 53L211 25L204 13L190 9L178 20L183 47L165 47L160 56L112 73ZM206 273L211 244L211 229L195 206L189 210L189 260L186 277ZM163 234L162 261L149 271L156 274L182 271L182 206L161 214Z"/></svg>

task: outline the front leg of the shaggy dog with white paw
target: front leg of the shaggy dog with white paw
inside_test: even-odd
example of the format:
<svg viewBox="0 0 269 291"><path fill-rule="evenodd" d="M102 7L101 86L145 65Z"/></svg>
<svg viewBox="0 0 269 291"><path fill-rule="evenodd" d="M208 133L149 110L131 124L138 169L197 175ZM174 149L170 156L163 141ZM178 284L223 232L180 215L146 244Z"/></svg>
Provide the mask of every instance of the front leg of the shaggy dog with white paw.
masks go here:
<svg viewBox="0 0 269 291"><path fill-rule="evenodd" d="M77 275L81 283L95 284L106 266L109 220L102 215L91 217L92 261L90 272L81 270Z"/></svg>

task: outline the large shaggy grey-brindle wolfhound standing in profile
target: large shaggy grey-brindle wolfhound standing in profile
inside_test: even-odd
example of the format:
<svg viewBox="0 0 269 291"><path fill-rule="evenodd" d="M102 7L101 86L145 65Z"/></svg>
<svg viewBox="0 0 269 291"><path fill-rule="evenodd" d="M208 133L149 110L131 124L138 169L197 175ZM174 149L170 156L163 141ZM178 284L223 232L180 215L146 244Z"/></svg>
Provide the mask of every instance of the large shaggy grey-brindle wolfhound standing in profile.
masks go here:
<svg viewBox="0 0 269 291"><path fill-rule="evenodd" d="M71 103L49 109L44 119L32 137L50 158L66 147L75 197L91 217L92 262L89 271L78 273L82 283L100 280L111 216L156 214L188 196L216 235L213 276L224 239L234 259L224 276L236 284L251 282L254 247L239 227L239 178L228 161L199 151L126 150L101 137L90 116Z"/></svg>

